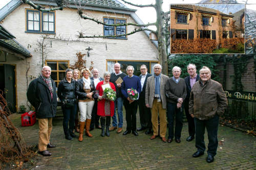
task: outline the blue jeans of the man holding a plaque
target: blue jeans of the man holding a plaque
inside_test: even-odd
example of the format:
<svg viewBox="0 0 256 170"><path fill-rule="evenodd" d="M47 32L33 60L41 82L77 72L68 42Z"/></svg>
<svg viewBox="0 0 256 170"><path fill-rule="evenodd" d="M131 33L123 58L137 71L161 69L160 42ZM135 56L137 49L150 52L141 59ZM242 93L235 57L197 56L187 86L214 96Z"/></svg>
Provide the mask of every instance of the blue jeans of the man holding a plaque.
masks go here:
<svg viewBox="0 0 256 170"><path fill-rule="evenodd" d="M112 117L112 125L113 127L117 127L117 119L116 119L116 109L118 114L118 128L123 127L123 98L117 98L115 100L115 111Z"/></svg>

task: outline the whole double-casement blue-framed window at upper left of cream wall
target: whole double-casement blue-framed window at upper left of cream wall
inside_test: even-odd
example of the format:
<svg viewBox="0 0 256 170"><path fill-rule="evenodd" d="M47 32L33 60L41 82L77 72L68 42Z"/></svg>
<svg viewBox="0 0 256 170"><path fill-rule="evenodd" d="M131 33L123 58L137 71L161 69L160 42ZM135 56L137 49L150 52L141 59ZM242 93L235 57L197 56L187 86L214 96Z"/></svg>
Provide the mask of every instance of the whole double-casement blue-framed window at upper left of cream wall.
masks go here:
<svg viewBox="0 0 256 170"><path fill-rule="evenodd" d="M37 10L26 10L27 33L55 34L55 12L40 12Z"/></svg>

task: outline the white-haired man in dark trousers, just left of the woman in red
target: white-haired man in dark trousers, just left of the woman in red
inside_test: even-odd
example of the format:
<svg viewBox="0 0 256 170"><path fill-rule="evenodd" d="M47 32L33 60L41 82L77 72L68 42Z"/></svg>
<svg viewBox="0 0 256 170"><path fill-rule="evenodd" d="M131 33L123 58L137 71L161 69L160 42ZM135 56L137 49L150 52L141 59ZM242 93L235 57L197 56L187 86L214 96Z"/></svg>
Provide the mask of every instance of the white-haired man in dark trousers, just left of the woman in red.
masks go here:
<svg viewBox="0 0 256 170"><path fill-rule="evenodd" d="M103 81L104 79L99 77L99 70L97 68L93 68L93 77L91 77L90 79L93 80L94 82L94 86L97 87L97 84L100 81ZM98 98L95 98L94 96L94 105L93 105L93 111L92 111L92 120L91 120L91 125L90 125L90 131L94 129L94 125L95 128L97 129L101 129L101 127L99 126L99 117L97 115L97 105L98 104Z"/></svg>

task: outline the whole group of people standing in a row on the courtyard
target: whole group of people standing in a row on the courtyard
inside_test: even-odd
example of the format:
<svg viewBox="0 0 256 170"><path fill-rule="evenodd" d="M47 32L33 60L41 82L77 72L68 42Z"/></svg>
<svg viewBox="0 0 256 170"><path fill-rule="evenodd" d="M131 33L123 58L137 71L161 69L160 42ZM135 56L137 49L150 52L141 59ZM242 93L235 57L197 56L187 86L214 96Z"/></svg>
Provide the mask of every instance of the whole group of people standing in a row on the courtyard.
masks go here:
<svg viewBox="0 0 256 170"><path fill-rule="evenodd" d="M108 71L104 72L103 79L99 78L97 69L93 69L93 77L90 78L91 71L84 68L81 70L82 78L78 80L79 70L68 68L66 78L59 83L57 90L58 98L62 103L63 131L66 139L73 140L78 137L73 131L78 108L79 141L83 140L84 128L86 135L92 137L90 130L94 129L94 125L101 129L101 136L110 136L109 131L114 130L121 133L124 105L127 126L123 135L132 132L138 136L137 131L146 130L145 134L153 133L150 139L160 136L163 142L170 143L175 138L175 141L180 143L183 110L185 110L189 132L186 140L191 141L196 137L197 152L193 157L204 154L206 128L209 139L206 161L214 161L218 147L219 115L224 112L227 105L222 85L210 79L211 71L206 66L200 69L198 75L196 65L189 64L187 66L189 76L185 79L180 78L181 68L178 66L173 67L173 77L170 78L161 74L160 64L155 64L153 69L152 75L147 72L146 65L141 65L141 75L138 77L134 75L133 66L126 67L126 75L121 71L121 65L115 63L115 71L112 74ZM57 95L55 82L50 75L51 68L42 67L41 76L30 83L27 92L28 100L35 107L38 118L38 153L44 156L51 155L47 148L55 147L50 143L50 134L52 117L56 114ZM116 92L115 101L105 99L105 88L111 88ZM138 93L137 99L132 99L127 93L130 89ZM138 107L141 127L137 129ZM111 117L112 127L110 127ZM168 127L167 139L166 127Z"/></svg>

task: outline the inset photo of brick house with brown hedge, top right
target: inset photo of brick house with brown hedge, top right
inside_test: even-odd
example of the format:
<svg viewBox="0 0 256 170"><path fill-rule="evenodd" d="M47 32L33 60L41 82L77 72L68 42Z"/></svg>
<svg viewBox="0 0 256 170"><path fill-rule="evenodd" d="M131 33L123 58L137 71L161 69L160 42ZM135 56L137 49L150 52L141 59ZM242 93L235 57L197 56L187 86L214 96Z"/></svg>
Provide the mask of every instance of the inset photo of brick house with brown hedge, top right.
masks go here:
<svg viewBox="0 0 256 170"><path fill-rule="evenodd" d="M170 54L245 54L245 5L170 4Z"/></svg>

